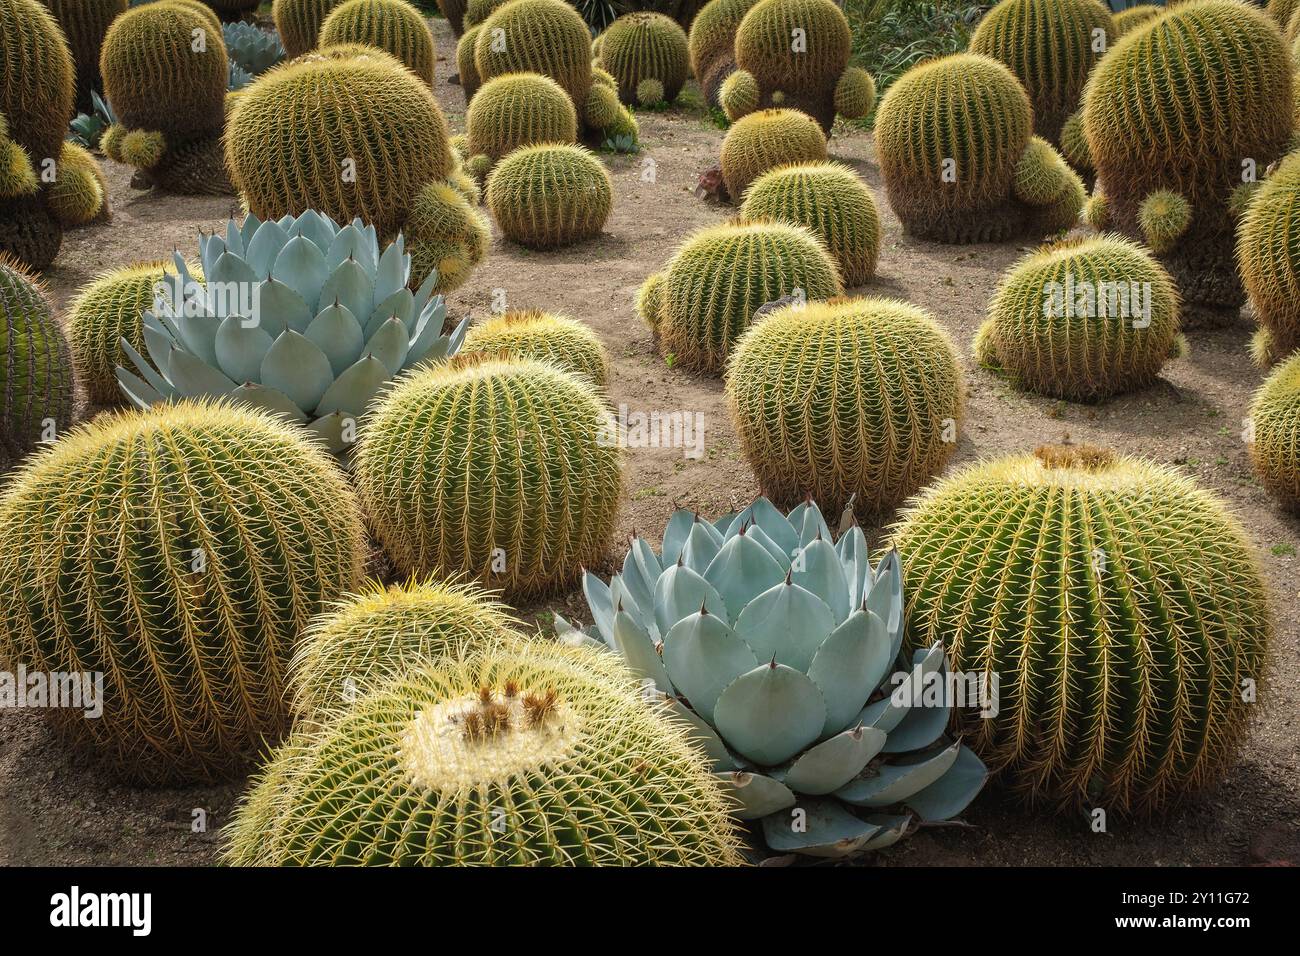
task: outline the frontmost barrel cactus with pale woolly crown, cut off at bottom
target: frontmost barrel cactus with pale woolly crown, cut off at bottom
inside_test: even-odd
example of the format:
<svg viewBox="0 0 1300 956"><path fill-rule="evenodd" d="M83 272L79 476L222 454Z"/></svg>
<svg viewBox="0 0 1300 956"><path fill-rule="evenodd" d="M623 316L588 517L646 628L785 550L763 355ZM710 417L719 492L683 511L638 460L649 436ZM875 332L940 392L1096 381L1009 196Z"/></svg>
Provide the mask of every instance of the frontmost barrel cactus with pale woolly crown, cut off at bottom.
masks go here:
<svg viewBox="0 0 1300 956"><path fill-rule="evenodd" d="M439 658L295 734L237 812L226 861L740 865L703 754L637 692L550 648Z"/></svg>

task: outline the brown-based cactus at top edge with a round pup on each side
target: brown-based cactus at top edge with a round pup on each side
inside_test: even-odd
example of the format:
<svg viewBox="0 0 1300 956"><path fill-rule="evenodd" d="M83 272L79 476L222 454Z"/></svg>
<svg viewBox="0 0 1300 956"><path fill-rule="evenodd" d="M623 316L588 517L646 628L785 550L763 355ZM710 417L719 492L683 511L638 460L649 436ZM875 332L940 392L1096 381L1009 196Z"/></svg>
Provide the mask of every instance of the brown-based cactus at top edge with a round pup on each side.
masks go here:
<svg viewBox="0 0 1300 956"><path fill-rule="evenodd" d="M852 43L832 0L760 0L736 30L736 73L719 103L733 121L768 107L801 109L829 135L837 114L859 120L876 101L871 74L849 65Z"/></svg>

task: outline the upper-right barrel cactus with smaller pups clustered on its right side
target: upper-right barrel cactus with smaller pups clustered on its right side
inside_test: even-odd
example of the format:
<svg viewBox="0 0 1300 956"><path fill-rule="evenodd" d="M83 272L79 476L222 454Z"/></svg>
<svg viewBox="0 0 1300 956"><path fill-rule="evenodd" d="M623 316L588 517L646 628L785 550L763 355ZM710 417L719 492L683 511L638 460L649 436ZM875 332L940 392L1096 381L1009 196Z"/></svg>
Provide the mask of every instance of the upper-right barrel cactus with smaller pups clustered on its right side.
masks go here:
<svg viewBox="0 0 1300 956"><path fill-rule="evenodd" d="M1078 174L1034 135L1024 87L987 56L907 70L876 111L876 148L904 228L937 242L1060 232L1086 199Z"/></svg>

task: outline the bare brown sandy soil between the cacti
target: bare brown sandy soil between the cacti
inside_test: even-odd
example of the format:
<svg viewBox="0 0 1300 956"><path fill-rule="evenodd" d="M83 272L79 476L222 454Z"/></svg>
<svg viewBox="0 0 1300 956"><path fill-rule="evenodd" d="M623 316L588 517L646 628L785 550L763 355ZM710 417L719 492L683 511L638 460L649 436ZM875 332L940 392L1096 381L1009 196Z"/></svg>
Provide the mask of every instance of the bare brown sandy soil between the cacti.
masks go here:
<svg viewBox="0 0 1300 956"><path fill-rule="evenodd" d="M443 60L436 91L452 125L464 100L450 85L450 30L434 23ZM716 163L722 131L698 108L641 113L645 151L606 156L614 177L614 212L603 235L556 254L533 254L494 239L486 263L450 297L455 315L484 316L498 290L510 307L540 307L576 316L595 329L612 359L610 395L630 410L701 412L706 453L698 460L673 449L628 451L628 497L620 532L656 533L675 505L718 515L758 492L727 416L722 382L671 369L632 308L640 282L693 230L732 211L697 199L702 172ZM1069 436L1176 464L1223 496L1254 537L1273 589L1277 636L1265 705L1239 766L1216 790L1156 821L1112 818L1093 832L1084 817L1023 813L987 791L966 826L916 834L868 865L1183 865L1300 862L1300 666L1297 666L1296 548L1300 520L1275 506L1252 477L1242 420L1260 373L1247 356L1248 319L1235 328L1193 332L1190 358L1140 394L1098 406L1054 402L1014 392L970 360L968 342L1000 274L1026 245L952 247L902 234L884 203L868 134L837 133L832 157L871 185L885 224L879 276L866 295L907 299L928 308L962 350L967 420L953 467L980 457L1032 449ZM654 177L644 176L654 160ZM47 280L60 306L103 269L187 255L196 233L235 211L228 199L133 193L129 172L105 161L114 220L68 235ZM870 529L879 540L880 527ZM612 555L611 555L612 558ZM608 568L607 568L608 570ZM581 594L549 605L588 619ZM546 609L525 609L540 619ZM229 819L242 782L217 787L139 791L113 783L83 757L62 750L31 714L0 711L0 862L3 864L207 864L216 830ZM194 832L203 810L207 832Z"/></svg>

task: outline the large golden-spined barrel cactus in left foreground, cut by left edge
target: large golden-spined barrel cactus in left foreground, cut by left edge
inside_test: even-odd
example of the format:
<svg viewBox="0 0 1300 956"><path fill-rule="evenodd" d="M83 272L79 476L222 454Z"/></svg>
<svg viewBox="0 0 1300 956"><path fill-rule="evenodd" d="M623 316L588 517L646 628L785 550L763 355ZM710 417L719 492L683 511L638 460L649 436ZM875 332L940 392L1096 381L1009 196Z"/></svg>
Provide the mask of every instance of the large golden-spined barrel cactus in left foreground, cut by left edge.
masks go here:
<svg viewBox="0 0 1300 956"><path fill-rule="evenodd" d="M235 774L287 728L294 643L359 585L364 529L294 427L186 402L31 459L0 496L0 656L103 674L101 717L55 710L60 730L166 783Z"/></svg>

